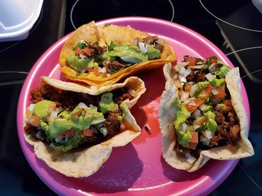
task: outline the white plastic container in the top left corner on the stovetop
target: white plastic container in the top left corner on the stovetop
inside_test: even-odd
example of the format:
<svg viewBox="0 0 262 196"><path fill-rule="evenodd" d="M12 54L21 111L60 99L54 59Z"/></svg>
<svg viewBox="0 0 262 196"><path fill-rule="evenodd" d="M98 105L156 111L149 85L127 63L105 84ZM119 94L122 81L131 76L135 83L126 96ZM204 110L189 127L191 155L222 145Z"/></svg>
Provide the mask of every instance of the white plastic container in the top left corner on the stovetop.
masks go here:
<svg viewBox="0 0 262 196"><path fill-rule="evenodd" d="M0 0L0 42L26 39L42 4L43 0Z"/></svg>

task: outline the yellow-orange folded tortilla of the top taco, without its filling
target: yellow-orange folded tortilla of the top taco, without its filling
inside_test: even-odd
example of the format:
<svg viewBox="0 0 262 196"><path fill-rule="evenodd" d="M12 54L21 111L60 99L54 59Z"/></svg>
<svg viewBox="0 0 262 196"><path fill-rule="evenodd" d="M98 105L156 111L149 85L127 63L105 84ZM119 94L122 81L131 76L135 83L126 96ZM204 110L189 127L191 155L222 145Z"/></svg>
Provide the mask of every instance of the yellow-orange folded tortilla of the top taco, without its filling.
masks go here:
<svg viewBox="0 0 262 196"><path fill-rule="evenodd" d="M172 47L166 43L161 43L164 45L164 49L161 53L159 59L148 60L141 63L134 64L128 68L120 70L117 73L112 74L109 77L102 77L95 75L94 73L77 73L72 69L67 63L67 56L73 52L72 47L85 40L87 42L98 42L99 46L107 46L114 42L116 44L130 44L132 45L134 39L145 38L150 36L147 33L141 32L130 26L117 26L117 25L95 25L92 21L86 25L82 25L77 30L75 30L72 35L65 42L59 57L59 64L62 66L60 71L64 73L64 77L70 80L79 81L87 83L90 86L106 86L116 83L121 78L132 75L134 73L145 71L149 69L154 69L163 66L165 63L174 62L176 60L175 52Z"/></svg>

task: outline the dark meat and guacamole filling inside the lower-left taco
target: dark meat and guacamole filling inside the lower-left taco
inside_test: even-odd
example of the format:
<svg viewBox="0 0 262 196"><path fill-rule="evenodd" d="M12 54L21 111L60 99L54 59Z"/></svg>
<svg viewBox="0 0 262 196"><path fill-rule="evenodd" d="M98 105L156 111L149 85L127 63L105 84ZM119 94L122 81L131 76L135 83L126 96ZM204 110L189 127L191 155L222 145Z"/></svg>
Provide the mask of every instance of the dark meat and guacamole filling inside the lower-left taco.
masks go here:
<svg viewBox="0 0 262 196"><path fill-rule="evenodd" d="M123 101L135 96L129 91L91 96L45 84L30 92L24 131L64 152L96 145L125 130Z"/></svg>

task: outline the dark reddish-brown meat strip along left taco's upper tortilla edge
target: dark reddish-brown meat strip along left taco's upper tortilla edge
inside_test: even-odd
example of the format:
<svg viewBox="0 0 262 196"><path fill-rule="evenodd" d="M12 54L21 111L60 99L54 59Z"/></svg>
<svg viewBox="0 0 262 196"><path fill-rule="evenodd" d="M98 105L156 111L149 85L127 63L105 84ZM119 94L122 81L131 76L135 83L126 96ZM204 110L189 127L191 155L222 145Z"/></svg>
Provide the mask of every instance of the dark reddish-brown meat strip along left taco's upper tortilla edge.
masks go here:
<svg viewBox="0 0 262 196"><path fill-rule="evenodd" d="M84 102L86 105L95 105L98 101L96 96L85 94L84 97L81 93L63 91L48 84L32 90L30 96L32 97L31 103L47 99L56 102L57 107L62 107L65 110L75 108L80 102Z"/></svg>

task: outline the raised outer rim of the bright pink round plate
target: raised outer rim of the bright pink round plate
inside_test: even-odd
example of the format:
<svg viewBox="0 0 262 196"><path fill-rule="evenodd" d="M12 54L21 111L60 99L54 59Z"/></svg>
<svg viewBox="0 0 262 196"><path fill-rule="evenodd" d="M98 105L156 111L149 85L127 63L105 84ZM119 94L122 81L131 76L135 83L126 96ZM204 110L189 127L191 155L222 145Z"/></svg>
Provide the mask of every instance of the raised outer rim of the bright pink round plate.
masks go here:
<svg viewBox="0 0 262 196"><path fill-rule="evenodd" d="M102 21L98 21L96 22L96 25L101 25L101 24L105 24L105 23L114 23L114 22L128 22L128 21L136 21L136 22L140 22L140 21L150 21L153 23L157 23L157 24L165 24L165 25L169 25L172 26L174 28L179 28L183 31L186 31L187 33L190 33L191 35L193 35L194 37L196 37L196 39L200 39L203 42L205 42L208 47L212 48L213 50L217 51L221 56L223 56L224 59L227 60L227 62L230 63L230 67L234 67L233 64L231 63L231 61L228 59L228 57L217 47L215 46L211 41L209 41L207 38L205 38L203 35L201 35L200 33L186 27L183 25L179 25L173 22L169 22L166 20L162 20L162 19L157 19L157 18L150 18L150 17L117 17L117 18L111 18L111 19L106 19L106 20L102 20ZM32 81L33 76L37 73L38 69L42 66L42 62L49 56L50 53L52 53L53 50L57 49L61 44L63 44L68 37L70 36L72 32L64 35L62 38L60 38L57 42L55 42L53 45L51 45L47 50L45 50L45 52L38 58L38 60L34 63L34 65L32 66L32 68L29 71L29 74L23 84L23 87L21 89L20 92L20 96L19 96L19 101L18 101L18 107L17 107L17 134L18 134L18 138L19 138L19 142L20 142L20 146L22 148L22 151L30 165L30 167L33 169L33 171L38 175L38 177L51 189L53 190L55 193L59 194L59 195L66 195L69 192L65 191L65 189L57 189L56 187L52 186L52 184L49 182L50 180L46 179L46 177L42 174L42 172L40 172L40 170L37 170L37 167L33 166L33 163L31 163L29 161L29 154L25 153L24 151L24 147L21 143L21 140L24 140L24 136L22 137L22 135L24 135L23 133L20 133L21 131L19 130L19 124L23 124L23 118L24 116L21 117L21 108L23 108L23 106L26 104L26 100L25 100L25 95L26 93L28 93L29 91L29 85ZM241 84L242 87L244 87L244 84L241 80ZM248 118L248 130L250 127L250 107L249 107L249 100L247 97L247 93L244 87L244 90L242 90L242 97L246 98L247 101L247 105L248 107L245 108L246 109L246 113L247 113L247 118ZM236 160L232 160L230 162L230 164L228 164L229 169L227 169L226 172L224 172L222 175L220 175L215 181L211 180L209 182L209 186L202 186L202 191L201 192L197 192L194 195L207 195L209 194L211 191L213 191L215 188L217 188L228 176L229 174L233 171L233 169L235 168L236 164L238 163L239 159ZM208 179L210 179L210 177L208 176ZM206 180L204 180L200 185L201 186ZM68 189L68 188L67 188ZM73 190L73 194L77 193L77 190L72 189ZM71 192L70 192L71 193ZM78 192L79 195L83 195L80 192ZM182 193L183 194L183 193Z"/></svg>

